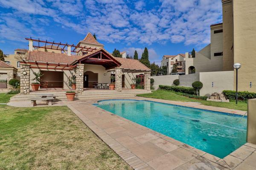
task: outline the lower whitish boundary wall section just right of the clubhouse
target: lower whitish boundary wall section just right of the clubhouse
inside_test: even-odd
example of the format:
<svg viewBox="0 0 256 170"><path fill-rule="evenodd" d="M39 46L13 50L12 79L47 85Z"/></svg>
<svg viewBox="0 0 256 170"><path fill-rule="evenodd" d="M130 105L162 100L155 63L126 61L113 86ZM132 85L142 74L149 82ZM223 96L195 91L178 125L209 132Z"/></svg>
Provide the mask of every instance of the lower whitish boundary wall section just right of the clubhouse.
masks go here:
<svg viewBox="0 0 256 170"><path fill-rule="evenodd" d="M158 89L159 85L174 85L173 81L179 79L179 75L166 75L166 76L152 76L154 79L154 89Z"/></svg>

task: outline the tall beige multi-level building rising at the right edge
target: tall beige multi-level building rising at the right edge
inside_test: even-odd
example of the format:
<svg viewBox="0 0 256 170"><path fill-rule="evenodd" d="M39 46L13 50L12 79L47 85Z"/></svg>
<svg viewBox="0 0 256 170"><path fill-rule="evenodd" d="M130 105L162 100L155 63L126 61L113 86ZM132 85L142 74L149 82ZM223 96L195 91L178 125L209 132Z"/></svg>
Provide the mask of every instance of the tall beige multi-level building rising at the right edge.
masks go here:
<svg viewBox="0 0 256 170"><path fill-rule="evenodd" d="M236 71L240 63L238 90L256 92L256 13L255 0L222 0L223 23L213 24L211 43L195 53L186 53L186 74L201 72ZM236 78L233 78L236 89Z"/></svg>

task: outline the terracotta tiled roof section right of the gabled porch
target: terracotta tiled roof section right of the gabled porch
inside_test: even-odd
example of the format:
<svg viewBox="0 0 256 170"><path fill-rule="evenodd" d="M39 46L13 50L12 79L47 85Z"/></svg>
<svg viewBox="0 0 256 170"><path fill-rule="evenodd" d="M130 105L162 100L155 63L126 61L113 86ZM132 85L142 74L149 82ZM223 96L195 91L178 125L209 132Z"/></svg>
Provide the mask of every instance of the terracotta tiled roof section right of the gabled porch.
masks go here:
<svg viewBox="0 0 256 170"><path fill-rule="evenodd" d="M126 58L119 58L119 57L115 57L115 59L121 62L122 64L120 66L121 68L150 71L148 67L146 67L137 59L126 59Z"/></svg>

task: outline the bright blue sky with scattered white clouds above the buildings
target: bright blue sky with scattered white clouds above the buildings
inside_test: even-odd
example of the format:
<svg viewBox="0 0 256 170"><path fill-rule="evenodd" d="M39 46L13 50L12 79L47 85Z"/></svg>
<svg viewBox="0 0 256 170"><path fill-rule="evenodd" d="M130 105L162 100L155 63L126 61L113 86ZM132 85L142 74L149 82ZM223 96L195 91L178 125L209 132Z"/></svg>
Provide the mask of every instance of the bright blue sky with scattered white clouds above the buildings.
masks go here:
<svg viewBox="0 0 256 170"><path fill-rule="evenodd" d="M77 44L87 32L112 52L150 61L200 50L210 25L222 22L221 0L0 0L0 49L28 48L25 37Z"/></svg>

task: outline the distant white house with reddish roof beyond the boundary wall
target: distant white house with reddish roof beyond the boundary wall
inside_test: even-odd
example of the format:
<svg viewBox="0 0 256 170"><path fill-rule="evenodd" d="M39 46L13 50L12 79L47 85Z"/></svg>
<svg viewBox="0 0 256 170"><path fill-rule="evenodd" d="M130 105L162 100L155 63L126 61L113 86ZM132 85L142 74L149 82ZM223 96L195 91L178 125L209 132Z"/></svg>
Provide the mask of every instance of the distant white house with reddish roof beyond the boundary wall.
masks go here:
<svg viewBox="0 0 256 170"><path fill-rule="evenodd" d="M177 73L172 73L173 65L177 65ZM167 67L167 74L185 74L185 54L164 55L161 67Z"/></svg>

